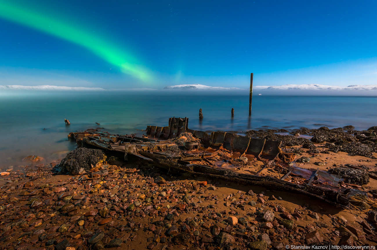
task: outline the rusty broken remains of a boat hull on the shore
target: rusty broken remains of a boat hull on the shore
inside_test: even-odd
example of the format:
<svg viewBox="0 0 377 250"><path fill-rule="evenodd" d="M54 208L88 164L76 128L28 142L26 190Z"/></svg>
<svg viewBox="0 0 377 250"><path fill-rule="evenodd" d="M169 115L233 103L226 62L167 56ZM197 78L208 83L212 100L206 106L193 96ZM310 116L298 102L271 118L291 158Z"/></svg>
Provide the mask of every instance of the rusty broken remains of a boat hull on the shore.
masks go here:
<svg viewBox="0 0 377 250"><path fill-rule="evenodd" d="M338 185L342 176L290 166L296 154L284 152L280 148L281 141L227 132L208 134L189 129L188 120L173 117L169 119L169 126L147 126L143 137L99 131L72 132L69 137L83 147L124 155L125 160L138 157L194 174L306 194L336 206L349 205L347 193L350 190ZM250 164L258 162L262 164L259 171L248 170ZM265 169L283 176L266 176ZM293 183L293 179L298 181Z"/></svg>

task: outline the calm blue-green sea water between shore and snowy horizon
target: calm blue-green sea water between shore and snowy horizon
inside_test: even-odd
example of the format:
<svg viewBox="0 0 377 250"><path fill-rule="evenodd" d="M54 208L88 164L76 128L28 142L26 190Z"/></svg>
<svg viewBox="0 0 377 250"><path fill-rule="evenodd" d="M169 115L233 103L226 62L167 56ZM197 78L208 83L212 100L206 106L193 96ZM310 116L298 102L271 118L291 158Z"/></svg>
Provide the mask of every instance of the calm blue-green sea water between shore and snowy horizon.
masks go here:
<svg viewBox="0 0 377 250"><path fill-rule="evenodd" d="M250 129L377 126L376 97L151 95L116 92L35 93L0 96L0 168L21 164L28 155L47 161L63 158L75 143L69 132L104 127L118 134L138 133L147 125L167 126L169 117L188 117L190 129ZM204 119L199 121L199 109ZM231 109L234 108L234 117ZM64 124L64 118L71 123ZM136 130L139 129L139 130Z"/></svg>

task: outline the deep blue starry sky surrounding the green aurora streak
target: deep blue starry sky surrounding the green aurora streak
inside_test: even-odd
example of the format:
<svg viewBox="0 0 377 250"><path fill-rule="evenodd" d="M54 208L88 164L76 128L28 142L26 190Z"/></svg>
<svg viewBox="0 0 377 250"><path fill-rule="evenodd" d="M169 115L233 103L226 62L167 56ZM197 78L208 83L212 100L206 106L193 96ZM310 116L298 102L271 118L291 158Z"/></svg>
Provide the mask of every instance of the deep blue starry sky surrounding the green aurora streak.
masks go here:
<svg viewBox="0 0 377 250"><path fill-rule="evenodd" d="M26 15L0 14L0 85L247 87L251 72L256 85L377 84L375 1L0 0L0 12L3 3L105 39L150 80Z"/></svg>

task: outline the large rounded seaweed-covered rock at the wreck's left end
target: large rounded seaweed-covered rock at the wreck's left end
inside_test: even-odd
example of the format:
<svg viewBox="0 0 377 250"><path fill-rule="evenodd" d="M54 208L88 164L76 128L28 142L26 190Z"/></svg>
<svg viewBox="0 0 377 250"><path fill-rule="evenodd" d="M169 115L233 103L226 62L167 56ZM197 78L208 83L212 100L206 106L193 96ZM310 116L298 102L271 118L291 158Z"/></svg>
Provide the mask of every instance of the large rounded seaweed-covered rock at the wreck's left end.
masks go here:
<svg viewBox="0 0 377 250"><path fill-rule="evenodd" d="M61 160L62 172L70 172L74 175L89 172L90 169L100 166L106 160L106 155L99 149L87 149L79 147L72 150Z"/></svg>

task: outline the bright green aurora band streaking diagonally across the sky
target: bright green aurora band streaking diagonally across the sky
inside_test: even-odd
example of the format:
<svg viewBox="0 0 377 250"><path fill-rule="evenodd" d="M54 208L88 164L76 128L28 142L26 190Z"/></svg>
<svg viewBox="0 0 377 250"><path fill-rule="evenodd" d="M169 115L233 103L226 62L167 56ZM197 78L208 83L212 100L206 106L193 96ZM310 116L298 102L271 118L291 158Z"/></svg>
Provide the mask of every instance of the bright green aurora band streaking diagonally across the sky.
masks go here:
<svg viewBox="0 0 377 250"><path fill-rule="evenodd" d="M132 75L144 82L151 80L150 74L143 66L130 63L135 61L130 54L102 38L67 25L63 21L54 20L3 1L0 1L0 17L79 44L98 57L120 67L125 74Z"/></svg>

